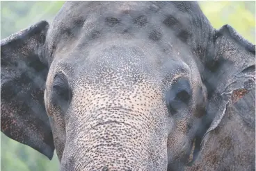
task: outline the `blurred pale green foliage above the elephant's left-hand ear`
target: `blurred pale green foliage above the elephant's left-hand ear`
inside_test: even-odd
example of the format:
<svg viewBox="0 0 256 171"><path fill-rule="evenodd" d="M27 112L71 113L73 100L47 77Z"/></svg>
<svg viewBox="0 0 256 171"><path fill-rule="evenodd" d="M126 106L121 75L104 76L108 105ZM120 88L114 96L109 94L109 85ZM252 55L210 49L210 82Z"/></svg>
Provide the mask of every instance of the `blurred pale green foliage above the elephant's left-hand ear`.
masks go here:
<svg viewBox="0 0 256 171"><path fill-rule="evenodd" d="M46 19L51 21L64 1L1 1L1 39Z"/></svg>

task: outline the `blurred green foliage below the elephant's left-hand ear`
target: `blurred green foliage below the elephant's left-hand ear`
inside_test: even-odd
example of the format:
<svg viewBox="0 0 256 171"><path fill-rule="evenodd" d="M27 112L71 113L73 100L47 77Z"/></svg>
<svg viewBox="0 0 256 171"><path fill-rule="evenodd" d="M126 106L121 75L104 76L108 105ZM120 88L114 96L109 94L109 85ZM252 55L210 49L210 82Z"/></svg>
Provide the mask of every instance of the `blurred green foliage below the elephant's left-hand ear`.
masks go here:
<svg viewBox="0 0 256 171"><path fill-rule="evenodd" d="M59 162L54 153L51 161L27 145L14 141L1 133L1 171L58 170Z"/></svg>

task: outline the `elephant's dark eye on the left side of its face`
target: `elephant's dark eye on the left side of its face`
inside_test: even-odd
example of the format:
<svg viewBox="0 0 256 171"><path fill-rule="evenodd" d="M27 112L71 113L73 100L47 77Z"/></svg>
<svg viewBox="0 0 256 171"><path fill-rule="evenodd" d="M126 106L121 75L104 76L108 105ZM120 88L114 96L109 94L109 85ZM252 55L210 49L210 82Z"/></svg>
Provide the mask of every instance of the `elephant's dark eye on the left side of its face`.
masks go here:
<svg viewBox="0 0 256 171"><path fill-rule="evenodd" d="M72 91L68 85L65 75L58 73L54 77L52 102L65 112L72 99Z"/></svg>

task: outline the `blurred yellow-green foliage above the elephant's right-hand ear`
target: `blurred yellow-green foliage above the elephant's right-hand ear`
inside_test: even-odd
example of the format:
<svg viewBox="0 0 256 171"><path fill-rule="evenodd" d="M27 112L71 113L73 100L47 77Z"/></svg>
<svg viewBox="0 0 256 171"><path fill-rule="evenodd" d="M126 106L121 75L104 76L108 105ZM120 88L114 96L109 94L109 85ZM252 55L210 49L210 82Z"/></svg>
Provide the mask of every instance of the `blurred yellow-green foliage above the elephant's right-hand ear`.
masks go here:
<svg viewBox="0 0 256 171"><path fill-rule="evenodd" d="M200 1L214 28L229 24L255 44L255 1Z"/></svg>

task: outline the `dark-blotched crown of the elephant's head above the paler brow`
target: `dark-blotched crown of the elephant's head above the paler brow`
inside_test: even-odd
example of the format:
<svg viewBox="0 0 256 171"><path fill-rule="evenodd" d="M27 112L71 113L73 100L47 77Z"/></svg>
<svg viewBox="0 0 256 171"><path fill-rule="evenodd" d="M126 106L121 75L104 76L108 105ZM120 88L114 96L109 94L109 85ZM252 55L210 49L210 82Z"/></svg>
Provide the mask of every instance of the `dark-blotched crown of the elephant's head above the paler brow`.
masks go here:
<svg viewBox="0 0 256 171"><path fill-rule="evenodd" d="M49 54L70 53L74 48L79 51L83 48L83 53L93 53L93 50L97 50L97 44L106 44L111 40L137 44L136 39L143 40L143 46L148 49L158 46L157 51L164 55L172 51L177 53L175 55L188 51L184 43L192 37L192 30L187 28L189 18L183 13L168 10L173 3L68 4L76 10L70 10L67 6L54 19L47 34ZM163 8L161 13L155 11L160 8ZM180 17L182 19L178 19ZM186 21L186 25L182 21Z"/></svg>

